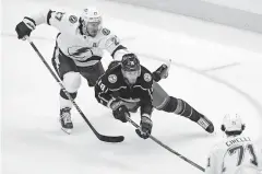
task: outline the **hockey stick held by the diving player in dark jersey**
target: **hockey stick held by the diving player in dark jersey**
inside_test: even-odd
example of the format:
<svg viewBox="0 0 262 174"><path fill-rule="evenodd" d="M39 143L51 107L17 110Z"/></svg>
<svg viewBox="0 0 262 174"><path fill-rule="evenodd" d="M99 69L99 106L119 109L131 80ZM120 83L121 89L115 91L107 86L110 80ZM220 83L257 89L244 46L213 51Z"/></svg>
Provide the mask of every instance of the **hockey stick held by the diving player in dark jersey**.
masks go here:
<svg viewBox="0 0 262 174"><path fill-rule="evenodd" d="M133 121L128 115L126 115L126 118L128 119L128 121L130 124L132 124L135 128L140 129L140 126L138 124L135 124L135 121ZM155 141L156 143L158 143L159 146L162 146L163 148L165 148L166 150L168 150L169 152L178 155L180 159L184 160L186 162L188 162L189 164L195 166L196 169L199 169L200 171L204 172L205 170L200 166L199 164L194 163L193 161L189 160L188 158L183 156L182 154L178 153L177 151L172 150L171 148L169 148L168 146L166 146L165 143L163 143L162 141L159 141L158 139L156 139L154 136L150 135L150 139L152 139L153 141Z"/></svg>

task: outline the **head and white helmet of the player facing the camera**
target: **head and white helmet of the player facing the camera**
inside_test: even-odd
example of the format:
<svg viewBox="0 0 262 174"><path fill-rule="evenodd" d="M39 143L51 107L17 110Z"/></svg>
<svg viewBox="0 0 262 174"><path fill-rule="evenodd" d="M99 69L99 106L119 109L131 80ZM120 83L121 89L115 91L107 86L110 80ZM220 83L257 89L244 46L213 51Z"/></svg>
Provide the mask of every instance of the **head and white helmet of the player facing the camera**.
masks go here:
<svg viewBox="0 0 262 174"><path fill-rule="evenodd" d="M80 22L84 35L95 37L98 31L102 30L102 15L96 8L84 9Z"/></svg>

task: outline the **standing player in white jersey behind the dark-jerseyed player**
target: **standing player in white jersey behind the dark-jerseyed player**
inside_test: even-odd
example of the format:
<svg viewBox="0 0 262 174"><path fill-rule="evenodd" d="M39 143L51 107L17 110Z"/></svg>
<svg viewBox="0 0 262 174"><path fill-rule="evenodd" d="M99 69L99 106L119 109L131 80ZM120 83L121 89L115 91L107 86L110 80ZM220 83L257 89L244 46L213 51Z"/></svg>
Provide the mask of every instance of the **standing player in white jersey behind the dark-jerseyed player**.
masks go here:
<svg viewBox="0 0 262 174"><path fill-rule="evenodd" d="M24 39L36 26L48 24L59 30L53 50L52 65L73 98L76 97L83 76L90 86L105 72L100 62L103 50L112 58L121 60L126 49L119 38L103 27L103 19L95 8L84 9L80 16L67 12L47 10L32 16L25 16L15 31L20 39ZM63 91L60 91L60 121L62 130L70 132L72 103Z"/></svg>

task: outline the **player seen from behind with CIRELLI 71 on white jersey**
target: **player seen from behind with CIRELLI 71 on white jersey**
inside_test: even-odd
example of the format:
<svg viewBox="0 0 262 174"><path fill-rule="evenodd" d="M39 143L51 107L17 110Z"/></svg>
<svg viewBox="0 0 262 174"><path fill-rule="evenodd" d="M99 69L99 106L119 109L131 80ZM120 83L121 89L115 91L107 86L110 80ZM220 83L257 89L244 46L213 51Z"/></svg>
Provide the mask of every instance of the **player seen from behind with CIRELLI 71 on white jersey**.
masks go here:
<svg viewBox="0 0 262 174"><path fill-rule="evenodd" d="M249 136L243 136L245 125L240 116L226 115L222 130L227 138L211 151L206 174L259 174L261 151Z"/></svg>

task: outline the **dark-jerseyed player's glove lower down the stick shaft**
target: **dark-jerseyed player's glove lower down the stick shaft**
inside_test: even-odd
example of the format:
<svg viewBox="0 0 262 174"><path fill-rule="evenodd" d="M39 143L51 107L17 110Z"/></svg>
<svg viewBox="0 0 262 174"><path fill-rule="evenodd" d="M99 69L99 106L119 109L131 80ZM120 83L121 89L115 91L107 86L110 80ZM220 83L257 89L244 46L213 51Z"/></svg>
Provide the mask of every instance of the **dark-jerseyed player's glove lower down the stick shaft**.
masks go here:
<svg viewBox="0 0 262 174"><path fill-rule="evenodd" d="M140 129L135 129L135 132L143 139L147 139L151 135L153 123L150 117L142 116L140 121Z"/></svg>

